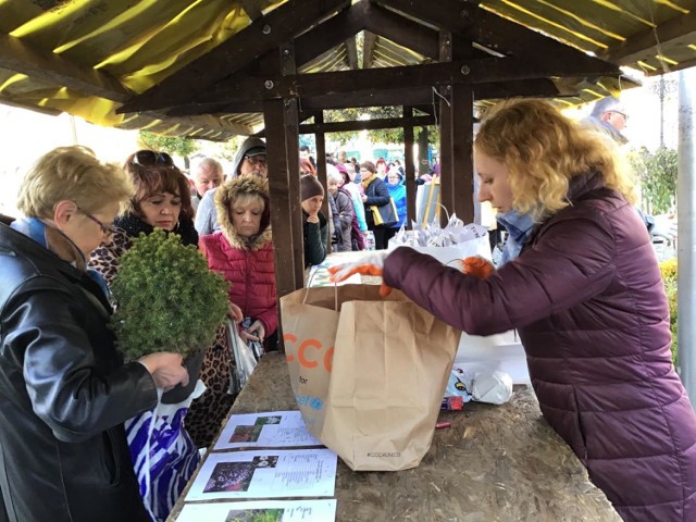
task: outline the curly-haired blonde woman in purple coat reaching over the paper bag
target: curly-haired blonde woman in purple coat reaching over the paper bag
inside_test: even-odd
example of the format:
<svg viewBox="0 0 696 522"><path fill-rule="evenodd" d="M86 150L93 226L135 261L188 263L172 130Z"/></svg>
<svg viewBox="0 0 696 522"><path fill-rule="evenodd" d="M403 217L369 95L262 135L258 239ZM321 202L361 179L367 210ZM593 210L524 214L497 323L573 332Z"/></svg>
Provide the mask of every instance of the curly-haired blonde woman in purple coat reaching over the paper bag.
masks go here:
<svg viewBox="0 0 696 522"><path fill-rule="evenodd" d="M519 257L485 279L410 248L372 264L383 262L386 285L470 334L518 328L544 418L624 520L696 520L696 417L619 160L542 100L496 105L474 156L478 199L537 223Z"/></svg>

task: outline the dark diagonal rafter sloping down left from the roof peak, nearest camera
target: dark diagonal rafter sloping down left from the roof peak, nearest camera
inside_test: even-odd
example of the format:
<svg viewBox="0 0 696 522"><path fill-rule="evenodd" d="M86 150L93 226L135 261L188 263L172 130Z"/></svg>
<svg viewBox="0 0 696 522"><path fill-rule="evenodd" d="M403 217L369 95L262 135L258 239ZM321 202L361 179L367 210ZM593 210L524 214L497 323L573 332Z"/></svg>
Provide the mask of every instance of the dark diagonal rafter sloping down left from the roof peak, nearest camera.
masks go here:
<svg viewBox="0 0 696 522"><path fill-rule="evenodd" d="M243 65L278 48L349 0L293 0L254 21L198 60L124 104L119 112L160 109L185 103Z"/></svg>

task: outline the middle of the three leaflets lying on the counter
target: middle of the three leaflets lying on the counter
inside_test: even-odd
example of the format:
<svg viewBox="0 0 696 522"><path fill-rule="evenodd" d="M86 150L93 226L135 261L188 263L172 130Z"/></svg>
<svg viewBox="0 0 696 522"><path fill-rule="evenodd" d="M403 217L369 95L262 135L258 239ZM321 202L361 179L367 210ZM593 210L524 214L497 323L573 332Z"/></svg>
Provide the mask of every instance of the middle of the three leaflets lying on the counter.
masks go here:
<svg viewBox="0 0 696 522"><path fill-rule="evenodd" d="M335 482L331 449L211 452L185 500L331 497Z"/></svg>

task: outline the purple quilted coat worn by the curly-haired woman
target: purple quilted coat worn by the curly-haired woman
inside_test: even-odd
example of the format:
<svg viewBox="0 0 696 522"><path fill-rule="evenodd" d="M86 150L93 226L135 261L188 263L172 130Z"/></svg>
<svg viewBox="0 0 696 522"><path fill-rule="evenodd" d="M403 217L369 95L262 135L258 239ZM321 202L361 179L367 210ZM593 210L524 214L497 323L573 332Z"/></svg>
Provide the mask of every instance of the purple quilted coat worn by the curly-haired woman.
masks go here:
<svg viewBox="0 0 696 522"><path fill-rule="evenodd" d="M636 211L599 176L488 279L399 248L384 281L469 334L518 328L548 423L625 520L696 521L696 417Z"/></svg>

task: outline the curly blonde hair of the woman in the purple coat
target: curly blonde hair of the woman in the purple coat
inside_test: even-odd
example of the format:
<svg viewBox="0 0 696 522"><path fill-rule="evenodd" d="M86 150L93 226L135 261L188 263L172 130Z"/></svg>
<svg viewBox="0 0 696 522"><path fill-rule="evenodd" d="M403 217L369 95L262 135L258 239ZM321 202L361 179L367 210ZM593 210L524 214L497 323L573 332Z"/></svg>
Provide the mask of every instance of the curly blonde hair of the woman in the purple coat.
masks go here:
<svg viewBox="0 0 696 522"><path fill-rule="evenodd" d="M568 207L570 181L588 172L635 202L627 162L616 147L546 101L517 99L494 105L484 116L474 150L506 165L512 207L534 219Z"/></svg>

